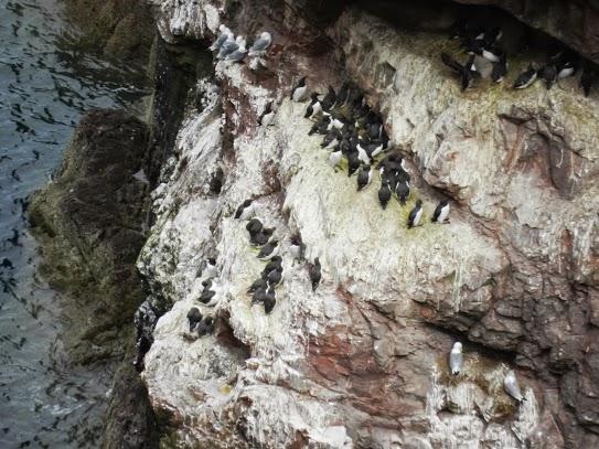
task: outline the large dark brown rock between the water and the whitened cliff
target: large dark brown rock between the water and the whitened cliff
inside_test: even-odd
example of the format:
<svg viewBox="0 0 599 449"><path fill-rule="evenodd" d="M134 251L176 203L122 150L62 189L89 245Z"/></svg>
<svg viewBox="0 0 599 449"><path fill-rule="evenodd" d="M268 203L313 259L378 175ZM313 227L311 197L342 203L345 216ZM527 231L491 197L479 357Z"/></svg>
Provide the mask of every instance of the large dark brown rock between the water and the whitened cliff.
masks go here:
<svg viewBox="0 0 599 449"><path fill-rule="evenodd" d="M131 361L130 323L142 300L135 260L145 242L148 128L120 111L95 110L78 125L54 180L31 202L43 275L67 293L61 335L68 362L117 372L103 447L156 447L147 392ZM120 366L119 366L120 365Z"/></svg>

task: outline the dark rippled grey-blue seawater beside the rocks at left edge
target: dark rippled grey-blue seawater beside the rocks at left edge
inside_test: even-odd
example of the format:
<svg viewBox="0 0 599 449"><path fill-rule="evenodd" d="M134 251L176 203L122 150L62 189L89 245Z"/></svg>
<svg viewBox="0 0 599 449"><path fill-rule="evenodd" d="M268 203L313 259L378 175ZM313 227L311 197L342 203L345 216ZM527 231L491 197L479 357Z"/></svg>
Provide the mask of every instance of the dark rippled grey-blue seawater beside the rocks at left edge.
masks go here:
<svg viewBox="0 0 599 449"><path fill-rule="evenodd" d="M0 448L97 447L106 407L109 376L65 363L25 218L81 115L142 95L132 72L73 50L75 33L57 0L0 0Z"/></svg>

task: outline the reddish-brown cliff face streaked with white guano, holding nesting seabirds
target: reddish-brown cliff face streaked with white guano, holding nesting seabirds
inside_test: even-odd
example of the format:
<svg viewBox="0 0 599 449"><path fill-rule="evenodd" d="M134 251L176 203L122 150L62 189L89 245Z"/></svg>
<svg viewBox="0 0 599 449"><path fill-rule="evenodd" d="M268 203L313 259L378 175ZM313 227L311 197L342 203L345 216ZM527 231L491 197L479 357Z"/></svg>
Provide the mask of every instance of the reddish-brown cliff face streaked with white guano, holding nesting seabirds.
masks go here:
<svg viewBox="0 0 599 449"><path fill-rule="evenodd" d="M445 35L359 8L153 3L175 45L205 44L222 20L274 35L266 67L218 63L199 79L152 194L138 268L154 308L172 308L142 376L179 446L599 446L596 95L582 97L573 78L461 93L439 61ZM514 61L512 76L527 62ZM414 197L382 211L378 180L356 192L354 178L333 172L321 138L308 136L307 104L289 99L302 75L319 92L344 76L364 89L407 156L425 226L405 226ZM275 125L259 127L269 101ZM248 197L281 242L285 282L268 316L246 295L264 263L233 218ZM430 224L441 199L451 223ZM289 255L296 233L322 263L315 292ZM218 269L212 308L197 302L206 257ZM217 318L212 335L190 339L192 306ZM467 362L452 377L457 339ZM522 405L503 392L509 368Z"/></svg>

